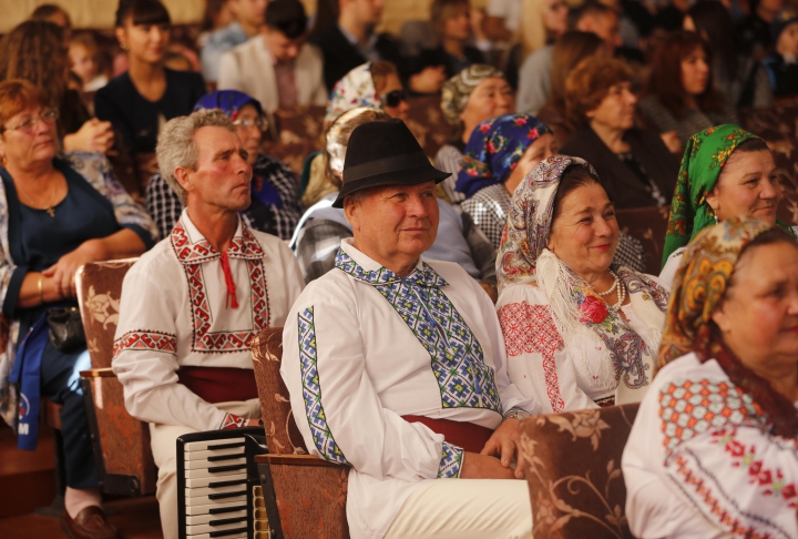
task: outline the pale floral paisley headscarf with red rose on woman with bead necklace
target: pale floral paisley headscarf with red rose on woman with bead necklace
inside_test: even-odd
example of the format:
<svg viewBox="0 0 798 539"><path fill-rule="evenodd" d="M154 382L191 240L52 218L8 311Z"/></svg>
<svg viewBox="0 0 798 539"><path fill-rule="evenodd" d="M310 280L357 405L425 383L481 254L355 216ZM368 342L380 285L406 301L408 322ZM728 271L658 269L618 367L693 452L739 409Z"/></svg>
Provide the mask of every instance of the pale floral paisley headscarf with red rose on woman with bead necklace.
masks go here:
<svg viewBox="0 0 798 539"><path fill-rule="evenodd" d="M616 404L638 401L640 397L632 397L628 391L647 386L654 374L668 293L646 275L623 266L615 270L628 291L635 314L646 324L646 334L638 335L617 311L549 251L554 196L571 165L584 166L600 181L586 161L554 155L535 166L513 193L497 258L499 291L536 283L548 297L557 332L566 343L587 339L592 346L574 349L608 350L611 360L604 362L598 376L620 382ZM576 354L576 368L595 373L587 366L595 359Z"/></svg>

